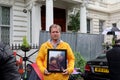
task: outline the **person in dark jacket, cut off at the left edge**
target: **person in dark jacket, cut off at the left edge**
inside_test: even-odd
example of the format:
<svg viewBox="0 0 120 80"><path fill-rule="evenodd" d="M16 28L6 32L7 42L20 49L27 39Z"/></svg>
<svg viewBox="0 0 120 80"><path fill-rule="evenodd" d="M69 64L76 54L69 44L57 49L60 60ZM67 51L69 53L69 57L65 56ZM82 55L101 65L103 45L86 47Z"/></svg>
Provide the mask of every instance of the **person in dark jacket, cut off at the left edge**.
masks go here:
<svg viewBox="0 0 120 80"><path fill-rule="evenodd" d="M21 80L12 50L0 42L0 80Z"/></svg>

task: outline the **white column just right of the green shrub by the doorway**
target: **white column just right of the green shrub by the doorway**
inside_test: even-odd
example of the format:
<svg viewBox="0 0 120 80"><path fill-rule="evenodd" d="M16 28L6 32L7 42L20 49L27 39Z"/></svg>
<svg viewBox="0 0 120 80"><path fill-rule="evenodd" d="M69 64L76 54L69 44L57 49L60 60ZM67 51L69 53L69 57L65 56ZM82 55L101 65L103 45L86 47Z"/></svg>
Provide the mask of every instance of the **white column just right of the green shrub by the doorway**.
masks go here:
<svg viewBox="0 0 120 80"><path fill-rule="evenodd" d="M80 32L87 33L86 6L84 2L80 7Z"/></svg>

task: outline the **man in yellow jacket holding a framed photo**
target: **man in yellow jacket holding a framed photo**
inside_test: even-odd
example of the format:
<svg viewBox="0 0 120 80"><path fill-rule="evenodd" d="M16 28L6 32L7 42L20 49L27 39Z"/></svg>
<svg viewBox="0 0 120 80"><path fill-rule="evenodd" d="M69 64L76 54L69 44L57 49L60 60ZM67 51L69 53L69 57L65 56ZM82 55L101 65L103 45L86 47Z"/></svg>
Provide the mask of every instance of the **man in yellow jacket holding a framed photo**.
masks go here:
<svg viewBox="0 0 120 80"><path fill-rule="evenodd" d="M36 63L43 74L44 80L68 80L69 75L74 69L74 54L69 44L60 39L61 27L53 24L49 28L51 39L43 43L38 52ZM67 69L62 73L50 73L47 68L47 50L48 49L66 49L67 50Z"/></svg>

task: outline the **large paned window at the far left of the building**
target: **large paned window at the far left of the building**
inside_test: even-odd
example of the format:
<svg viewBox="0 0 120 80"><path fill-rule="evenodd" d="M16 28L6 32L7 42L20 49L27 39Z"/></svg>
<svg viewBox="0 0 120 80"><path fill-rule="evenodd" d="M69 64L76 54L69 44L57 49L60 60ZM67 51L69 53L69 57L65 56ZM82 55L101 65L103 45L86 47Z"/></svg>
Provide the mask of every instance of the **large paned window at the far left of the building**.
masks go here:
<svg viewBox="0 0 120 80"><path fill-rule="evenodd" d="M0 6L0 41L10 43L10 7Z"/></svg>

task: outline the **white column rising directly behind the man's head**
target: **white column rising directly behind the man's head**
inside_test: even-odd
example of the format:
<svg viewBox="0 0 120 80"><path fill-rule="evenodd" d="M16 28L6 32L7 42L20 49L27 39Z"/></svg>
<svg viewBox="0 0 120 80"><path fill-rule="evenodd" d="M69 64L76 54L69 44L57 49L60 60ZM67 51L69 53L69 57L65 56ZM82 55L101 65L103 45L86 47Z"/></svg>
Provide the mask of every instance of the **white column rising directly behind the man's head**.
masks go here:
<svg viewBox="0 0 120 80"><path fill-rule="evenodd" d="M53 24L53 0L46 0L46 31Z"/></svg>

